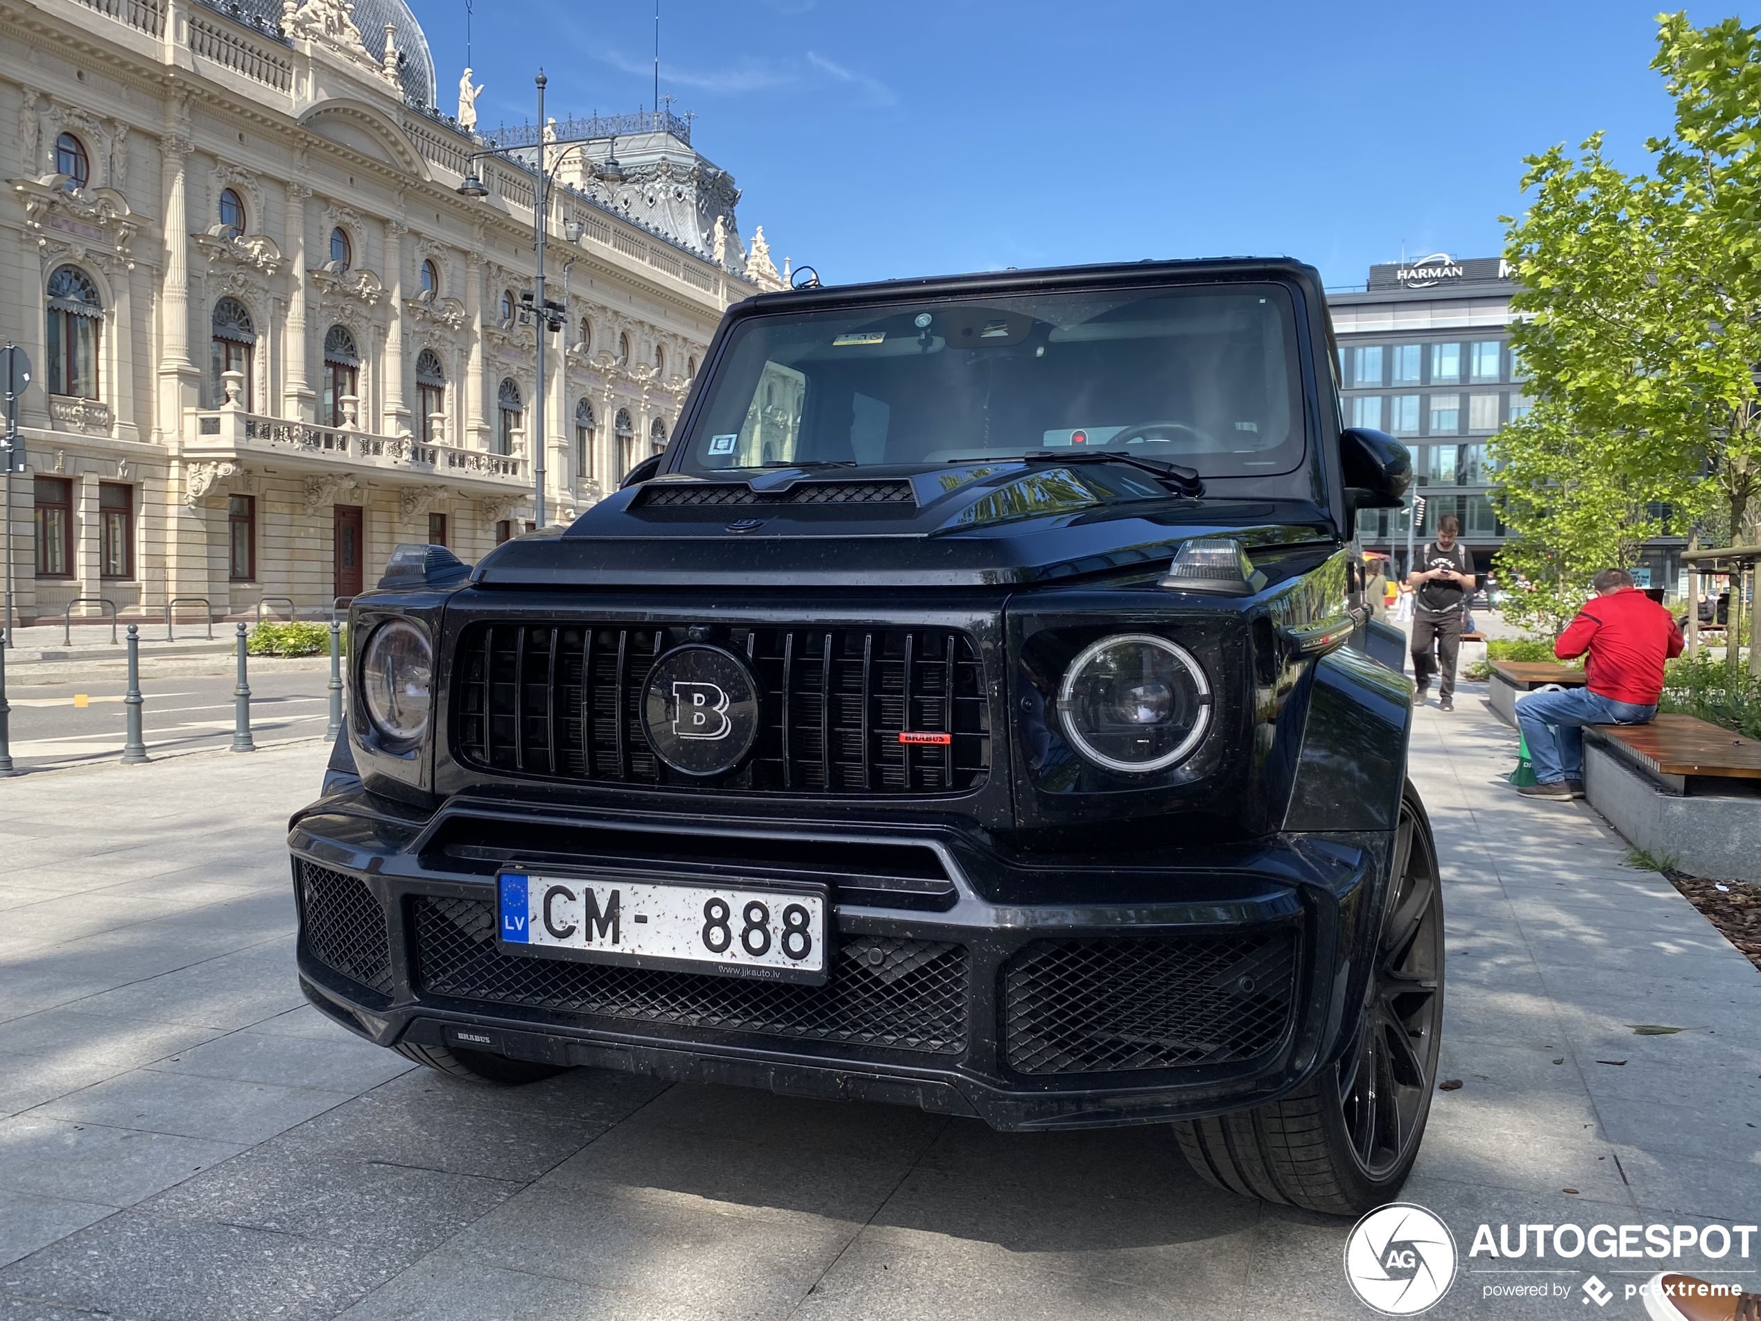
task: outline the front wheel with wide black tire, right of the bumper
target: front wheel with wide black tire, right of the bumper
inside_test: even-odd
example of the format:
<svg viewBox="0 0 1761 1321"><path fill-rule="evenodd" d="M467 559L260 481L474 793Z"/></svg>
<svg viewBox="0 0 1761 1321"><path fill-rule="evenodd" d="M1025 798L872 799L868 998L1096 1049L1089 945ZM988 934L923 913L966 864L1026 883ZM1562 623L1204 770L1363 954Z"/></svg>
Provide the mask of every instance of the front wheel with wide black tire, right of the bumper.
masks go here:
<svg viewBox="0 0 1761 1321"><path fill-rule="evenodd" d="M1444 981L1437 847L1411 784L1393 875L1358 1044L1282 1101L1175 1124L1182 1154L1206 1182L1243 1198L1363 1215L1407 1180L1437 1090Z"/></svg>

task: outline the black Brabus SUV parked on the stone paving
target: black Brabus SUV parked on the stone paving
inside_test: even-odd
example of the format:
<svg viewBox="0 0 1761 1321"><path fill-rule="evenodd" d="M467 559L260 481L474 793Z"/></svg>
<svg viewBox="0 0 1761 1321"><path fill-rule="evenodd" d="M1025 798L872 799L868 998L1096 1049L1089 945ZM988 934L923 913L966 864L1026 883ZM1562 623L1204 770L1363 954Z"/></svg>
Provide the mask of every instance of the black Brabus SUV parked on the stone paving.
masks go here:
<svg viewBox="0 0 1761 1321"><path fill-rule="evenodd" d="M1404 645L1291 261L729 310L664 454L356 599L299 978L414 1060L1176 1125L1352 1214L1418 1150L1442 907Z"/></svg>

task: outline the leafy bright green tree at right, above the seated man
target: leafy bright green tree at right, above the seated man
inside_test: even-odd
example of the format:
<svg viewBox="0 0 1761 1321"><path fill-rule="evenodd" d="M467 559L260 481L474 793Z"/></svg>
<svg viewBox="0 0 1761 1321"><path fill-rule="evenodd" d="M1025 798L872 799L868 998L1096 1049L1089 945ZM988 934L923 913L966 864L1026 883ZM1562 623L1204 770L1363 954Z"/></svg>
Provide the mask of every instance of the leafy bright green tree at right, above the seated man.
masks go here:
<svg viewBox="0 0 1761 1321"><path fill-rule="evenodd" d="M1513 602L1557 631L1601 567L1717 507L1736 535L1761 506L1761 102L1757 28L1661 14L1675 132L1625 174L1601 134L1527 157L1504 217L1522 292L1511 338L1534 407L1493 440Z"/></svg>

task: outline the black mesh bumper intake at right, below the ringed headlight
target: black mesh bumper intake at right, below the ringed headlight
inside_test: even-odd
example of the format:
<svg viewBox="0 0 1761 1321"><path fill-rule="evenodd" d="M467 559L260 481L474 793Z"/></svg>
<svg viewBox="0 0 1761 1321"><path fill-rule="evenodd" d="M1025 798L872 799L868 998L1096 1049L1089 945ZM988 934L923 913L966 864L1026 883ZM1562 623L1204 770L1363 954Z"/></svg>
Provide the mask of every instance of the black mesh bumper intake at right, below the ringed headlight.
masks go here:
<svg viewBox="0 0 1761 1321"><path fill-rule="evenodd" d="M1004 972L1016 1073L1129 1073L1234 1064L1291 1016L1293 932L1041 941Z"/></svg>

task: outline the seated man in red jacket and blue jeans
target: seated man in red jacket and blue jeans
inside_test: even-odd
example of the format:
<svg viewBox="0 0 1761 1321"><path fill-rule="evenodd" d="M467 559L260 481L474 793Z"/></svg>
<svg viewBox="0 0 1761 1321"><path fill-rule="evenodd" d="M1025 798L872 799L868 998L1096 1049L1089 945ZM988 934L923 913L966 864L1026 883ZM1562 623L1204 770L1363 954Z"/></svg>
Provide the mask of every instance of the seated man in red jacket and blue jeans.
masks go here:
<svg viewBox="0 0 1761 1321"><path fill-rule="evenodd" d="M1632 587L1625 569L1603 569L1595 597L1553 643L1553 655L1585 652L1585 685L1516 699L1516 724L1529 743L1536 782L1529 798L1583 798L1583 726L1645 724L1657 715L1662 662L1682 655L1682 631L1662 606Z"/></svg>

